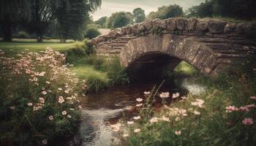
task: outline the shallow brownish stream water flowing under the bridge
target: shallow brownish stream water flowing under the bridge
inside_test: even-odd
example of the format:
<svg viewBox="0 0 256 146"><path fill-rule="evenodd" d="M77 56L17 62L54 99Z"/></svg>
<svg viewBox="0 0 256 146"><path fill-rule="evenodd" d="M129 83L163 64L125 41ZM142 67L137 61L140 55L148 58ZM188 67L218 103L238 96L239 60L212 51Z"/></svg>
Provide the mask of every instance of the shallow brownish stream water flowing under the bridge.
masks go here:
<svg viewBox="0 0 256 146"><path fill-rule="evenodd" d="M159 83L159 82L158 82ZM82 120L79 134L68 145L108 146L115 142L115 132L110 125L120 118L129 120L136 115L137 98L143 98L143 91L151 91L153 83L136 83L135 85L108 88L107 91L86 96L82 101ZM173 84L164 84L161 92L200 93L205 88L189 78L176 80Z"/></svg>

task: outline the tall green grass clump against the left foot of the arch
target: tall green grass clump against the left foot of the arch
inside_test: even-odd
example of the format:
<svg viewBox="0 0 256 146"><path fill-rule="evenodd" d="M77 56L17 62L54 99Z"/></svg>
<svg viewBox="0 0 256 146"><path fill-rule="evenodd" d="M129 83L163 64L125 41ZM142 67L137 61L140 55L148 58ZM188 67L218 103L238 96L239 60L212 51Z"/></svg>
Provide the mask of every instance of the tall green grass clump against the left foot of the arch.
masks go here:
<svg viewBox="0 0 256 146"><path fill-rule="evenodd" d="M121 65L119 58L110 58L106 63L107 75L111 85L127 85L129 84L129 77Z"/></svg>

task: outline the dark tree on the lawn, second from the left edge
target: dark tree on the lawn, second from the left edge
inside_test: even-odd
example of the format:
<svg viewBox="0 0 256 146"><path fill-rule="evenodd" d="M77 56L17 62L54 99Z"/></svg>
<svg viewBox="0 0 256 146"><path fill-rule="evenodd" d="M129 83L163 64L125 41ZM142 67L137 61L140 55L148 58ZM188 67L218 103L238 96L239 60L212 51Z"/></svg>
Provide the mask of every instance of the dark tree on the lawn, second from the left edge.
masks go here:
<svg viewBox="0 0 256 146"><path fill-rule="evenodd" d="M56 1L53 0L31 0L29 3L31 18L26 23L30 33L37 35L37 42L42 42L43 34L45 34L53 23L56 12Z"/></svg>

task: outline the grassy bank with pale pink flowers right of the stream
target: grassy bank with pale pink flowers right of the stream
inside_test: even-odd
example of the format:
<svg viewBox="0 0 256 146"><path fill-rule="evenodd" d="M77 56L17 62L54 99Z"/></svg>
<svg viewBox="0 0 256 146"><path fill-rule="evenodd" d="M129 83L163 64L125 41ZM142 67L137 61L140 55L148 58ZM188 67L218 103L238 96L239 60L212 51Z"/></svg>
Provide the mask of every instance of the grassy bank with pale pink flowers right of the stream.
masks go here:
<svg viewBox="0 0 256 146"><path fill-rule="evenodd" d="M134 124L123 121L120 145L256 145L255 74L252 58L232 74L214 80L199 77L208 85L205 93L182 98L170 95L178 100L158 112L148 109L154 97L147 94L138 107L138 120Z"/></svg>

